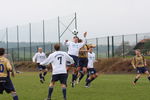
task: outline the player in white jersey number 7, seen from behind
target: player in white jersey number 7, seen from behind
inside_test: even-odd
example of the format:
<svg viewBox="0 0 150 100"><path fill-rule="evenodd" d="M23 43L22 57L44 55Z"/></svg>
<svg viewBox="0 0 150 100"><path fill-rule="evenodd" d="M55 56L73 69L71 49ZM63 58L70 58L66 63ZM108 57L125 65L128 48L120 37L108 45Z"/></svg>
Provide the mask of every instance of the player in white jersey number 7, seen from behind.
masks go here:
<svg viewBox="0 0 150 100"><path fill-rule="evenodd" d="M67 74L66 62L69 61L71 64L73 64L74 61L72 57L70 57L66 52L59 51L60 50L59 44L55 44L54 48L56 51L50 54L45 61L40 63L40 65L48 65L50 63L52 64L52 80L49 85L49 93L48 93L48 98L46 100L51 100L53 88L55 82L57 81L60 81L64 100L67 100L66 85L67 85L68 74Z"/></svg>

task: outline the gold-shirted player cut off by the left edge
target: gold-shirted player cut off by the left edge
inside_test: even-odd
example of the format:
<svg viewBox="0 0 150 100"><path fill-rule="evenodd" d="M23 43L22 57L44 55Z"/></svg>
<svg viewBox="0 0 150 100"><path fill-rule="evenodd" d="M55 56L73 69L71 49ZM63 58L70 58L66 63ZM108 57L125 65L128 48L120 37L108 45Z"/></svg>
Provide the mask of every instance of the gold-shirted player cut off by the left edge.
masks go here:
<svg viewBox="0 0 150 100"><path fill-rule="evenodd" d="M3 91L11 93L13 100L19 100L13 83L10 79L10 72L13 72L13 68L7 58L4 57L5 49L0 48L0 94Z"/></svg>

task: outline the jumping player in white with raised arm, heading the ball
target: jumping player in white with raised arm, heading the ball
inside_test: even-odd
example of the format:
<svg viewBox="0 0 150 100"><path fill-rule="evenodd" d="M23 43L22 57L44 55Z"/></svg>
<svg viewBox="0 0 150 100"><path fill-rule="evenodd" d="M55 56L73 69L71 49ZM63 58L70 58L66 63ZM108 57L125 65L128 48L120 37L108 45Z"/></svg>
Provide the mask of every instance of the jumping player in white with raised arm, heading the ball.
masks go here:
<svg viewBox="0 0 150 100"><path fill-rule="evenodd" d="M72 87L75 85L75 81L77 79L77 67L78 67L78 56L79 56L79 50L86 44L86 36L87 32L84 33L84 39L82 43L78 43L79 38L77 36L73 37L73 41L65 41L65 45L68 47L68 54L73 58L74 60L74 68L72 73ZM69 70L69 67L68 67Z"/></svg>

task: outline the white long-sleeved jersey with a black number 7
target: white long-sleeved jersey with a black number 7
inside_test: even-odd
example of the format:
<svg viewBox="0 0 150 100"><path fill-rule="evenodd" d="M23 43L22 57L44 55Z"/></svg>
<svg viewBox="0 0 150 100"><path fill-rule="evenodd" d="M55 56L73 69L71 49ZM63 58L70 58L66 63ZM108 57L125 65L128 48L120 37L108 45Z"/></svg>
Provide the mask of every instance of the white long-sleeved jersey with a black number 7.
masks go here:
<svg viewBox="0 0 150 100"><path fill-rule="evenodd" d="M70 57L66 52L63 51L55 51L50 54L49 57L40 63L40 65L48 65L52 64L52 74L66 74L66 62L69 61L71 64L74 63L72 57Z"/></svg>

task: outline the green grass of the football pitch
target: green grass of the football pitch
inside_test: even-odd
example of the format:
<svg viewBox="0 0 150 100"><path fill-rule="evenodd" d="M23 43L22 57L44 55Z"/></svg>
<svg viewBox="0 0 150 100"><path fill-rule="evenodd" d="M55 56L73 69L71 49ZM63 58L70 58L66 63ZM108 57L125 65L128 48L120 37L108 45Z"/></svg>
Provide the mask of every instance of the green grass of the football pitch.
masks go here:
<svg viewBox="0 0 150 100"><path fill-rule="evenodd" d="M90 88L82 81L75 88L68 83L68 100L149 100L150 82L143 76L137 86L131 84L135 75L101 75ZM23 73L12 78L20 100L44 100L47 97L50 74L46 82L39 82L38 73ZM68 80L68 82L70 79ZM4 93L0 100L12 100ZM52 100L63 100L60 84L54 89Z"/></svg>

